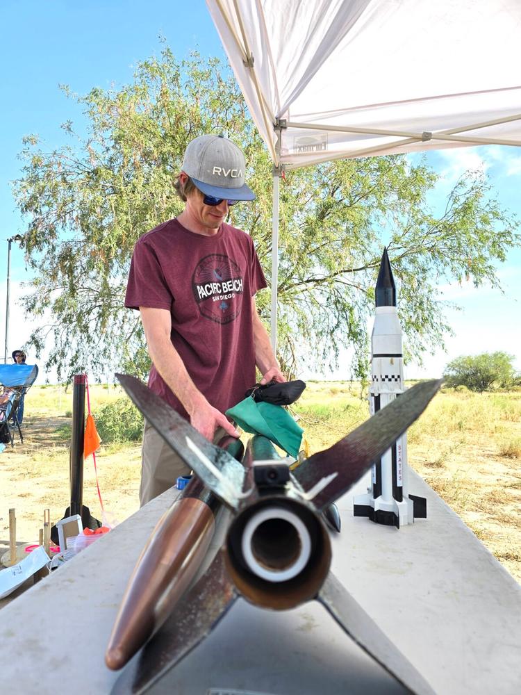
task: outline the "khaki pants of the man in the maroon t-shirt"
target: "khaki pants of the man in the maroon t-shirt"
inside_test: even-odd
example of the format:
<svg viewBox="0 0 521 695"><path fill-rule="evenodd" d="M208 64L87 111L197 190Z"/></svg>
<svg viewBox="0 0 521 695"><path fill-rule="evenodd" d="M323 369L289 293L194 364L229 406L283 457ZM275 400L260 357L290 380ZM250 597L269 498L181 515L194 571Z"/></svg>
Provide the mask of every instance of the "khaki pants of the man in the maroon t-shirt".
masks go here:
<svg viewBox="0 0 521 695"><path fill-rule="evenodd" d="M217 427L213 443L215 444L222 439L224 434L226 432L223 428ZM141 455L141 507L175 485L180 475L190 475L192 472L183 459L172 451L163 437L146 420Z"/></svg>

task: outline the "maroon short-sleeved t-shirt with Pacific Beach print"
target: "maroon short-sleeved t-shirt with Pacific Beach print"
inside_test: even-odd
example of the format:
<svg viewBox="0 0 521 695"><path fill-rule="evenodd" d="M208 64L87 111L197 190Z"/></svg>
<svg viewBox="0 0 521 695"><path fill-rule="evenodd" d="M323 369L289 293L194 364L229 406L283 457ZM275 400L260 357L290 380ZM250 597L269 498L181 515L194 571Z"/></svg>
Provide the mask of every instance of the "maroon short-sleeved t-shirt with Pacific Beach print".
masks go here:
<svg viewBox="0 0 521 695"><path fill-rule="evenodd" d="M172 343L197 389L222 413L255 383L251 297L266 286L248 234L203 236L169 220L136 243L125 306L167 309ZM188 419L154 364L149 387Z"/></svg>

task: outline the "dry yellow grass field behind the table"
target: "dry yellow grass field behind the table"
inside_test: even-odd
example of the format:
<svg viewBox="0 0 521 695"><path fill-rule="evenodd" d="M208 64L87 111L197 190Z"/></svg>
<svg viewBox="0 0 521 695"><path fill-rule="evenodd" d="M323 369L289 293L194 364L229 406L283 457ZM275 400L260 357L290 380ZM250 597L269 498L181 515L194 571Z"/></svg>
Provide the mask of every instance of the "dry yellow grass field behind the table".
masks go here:
<svg viewBox="0 0 521 695"><path fill-rule="evenodd" d="M91 387L93 409L121 397ZM24 443L0 454L0 539L8 539L15 507L17 538L36 541L44 509L51 520L68 505L72 393L35 386L26 397ZM340 439L367 418L358 385L311 382L295 405L309 452ZM65 434L64 434L65 432ZM409 463L461 516L499 562L521 582L521 392L439 393L408 433ZM140 445L105 444L97 455L99 486L108 514L123 521L138 509ZM92 457L85 461L83 503L97 518Z"/></svg>

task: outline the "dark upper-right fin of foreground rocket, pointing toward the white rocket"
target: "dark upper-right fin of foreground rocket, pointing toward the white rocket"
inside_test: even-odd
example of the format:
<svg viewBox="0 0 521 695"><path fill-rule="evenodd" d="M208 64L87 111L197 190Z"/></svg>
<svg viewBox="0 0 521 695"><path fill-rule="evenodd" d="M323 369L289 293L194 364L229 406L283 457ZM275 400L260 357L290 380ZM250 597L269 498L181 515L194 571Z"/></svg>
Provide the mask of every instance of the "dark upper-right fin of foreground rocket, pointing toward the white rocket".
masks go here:
<svg viewBox="0 0 521 695"><path fill-rule="evenodd" d="M293 475L306 491L318 486L317 509L331 505L360 479L398 437L420 417L443 379L415 384L329 449L313 454ZM320 486L322 484L322 487Z"/></svg>

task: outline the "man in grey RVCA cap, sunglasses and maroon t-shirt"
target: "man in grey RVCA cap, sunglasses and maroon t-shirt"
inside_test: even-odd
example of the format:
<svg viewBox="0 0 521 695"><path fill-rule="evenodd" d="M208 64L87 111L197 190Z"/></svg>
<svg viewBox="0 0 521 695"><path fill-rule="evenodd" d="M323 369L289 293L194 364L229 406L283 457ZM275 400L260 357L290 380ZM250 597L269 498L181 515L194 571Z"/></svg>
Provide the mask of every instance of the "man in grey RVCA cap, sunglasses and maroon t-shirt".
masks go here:
<svg viewBox="0 0 521 695"><path fill-rule="evenodd" d="M139 309L152 367L149 388L210 441L239 436L224 411L255 383L285 381L258 316L266 286L251 238L224 221L229 207L253 200L245 158L222 136L186 148L175 183L181 215L135 245L125 306ZM190 470L148 424L142 449L141 505Z"/></svg>

